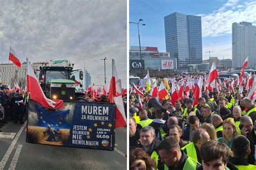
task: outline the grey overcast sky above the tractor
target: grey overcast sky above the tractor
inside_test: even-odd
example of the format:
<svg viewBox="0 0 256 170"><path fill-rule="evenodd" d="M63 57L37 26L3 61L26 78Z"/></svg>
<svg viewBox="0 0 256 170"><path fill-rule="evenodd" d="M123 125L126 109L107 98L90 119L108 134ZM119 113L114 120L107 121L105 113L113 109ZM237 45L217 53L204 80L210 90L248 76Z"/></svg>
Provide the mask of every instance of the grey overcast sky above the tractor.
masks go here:
<svg viewBox="0 0 256 170"><path fill-rule="evenodd" d="M1 0L0 59L8 63L10 45L25 62L70 60L90 72L92 83L109 86L115 59L126 86L126 1Z"/></svg>

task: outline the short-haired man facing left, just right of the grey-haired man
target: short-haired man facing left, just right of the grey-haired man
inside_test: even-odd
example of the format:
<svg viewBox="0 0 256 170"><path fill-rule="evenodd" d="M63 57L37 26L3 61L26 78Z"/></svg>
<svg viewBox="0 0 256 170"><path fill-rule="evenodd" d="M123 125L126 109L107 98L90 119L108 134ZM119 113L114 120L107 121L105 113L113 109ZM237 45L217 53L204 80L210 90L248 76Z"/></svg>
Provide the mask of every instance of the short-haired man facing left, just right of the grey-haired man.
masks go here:
<svg viewBox="0 0 256 170"><path fill-rule="evenodd" d="M184 147L184 146L186 146L187 144L190 143L190 141L181 139L180 138L181 135L182 135L182 130L181 130L181 127L179 125L174 124L170 127L169 136L173 137L174 139L176 139L178 141L180 148Z"/></svg>

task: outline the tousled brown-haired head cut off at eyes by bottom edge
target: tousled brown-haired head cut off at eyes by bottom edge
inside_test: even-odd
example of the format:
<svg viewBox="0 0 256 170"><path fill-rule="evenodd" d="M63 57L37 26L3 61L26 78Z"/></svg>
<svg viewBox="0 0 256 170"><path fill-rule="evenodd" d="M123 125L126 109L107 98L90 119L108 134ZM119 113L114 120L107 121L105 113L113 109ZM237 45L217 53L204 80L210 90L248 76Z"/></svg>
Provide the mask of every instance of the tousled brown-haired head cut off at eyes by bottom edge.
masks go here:
<svg viewBox="0 0 256 170"><path fill-rule="evenodd" d="M197 170L237 170L231 162L228 162L229 150L225 144L218 141L210 140L205 142L200 149L202 165Z"/></svg>

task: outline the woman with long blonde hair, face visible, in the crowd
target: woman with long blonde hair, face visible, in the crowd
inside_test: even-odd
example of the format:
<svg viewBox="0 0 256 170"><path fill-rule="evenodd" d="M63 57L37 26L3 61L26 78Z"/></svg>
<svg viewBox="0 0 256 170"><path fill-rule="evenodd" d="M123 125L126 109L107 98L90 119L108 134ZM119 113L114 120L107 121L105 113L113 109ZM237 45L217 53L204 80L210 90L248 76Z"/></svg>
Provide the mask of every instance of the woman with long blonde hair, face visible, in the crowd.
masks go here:
<svg viewBox="0 0 256 170"><path fill-rule="evenodd" d="M223 137L218 138L219 142L224 142L229 148L232 146L233 138L238 135L237 126L233 119L223 121Z"/></svg>

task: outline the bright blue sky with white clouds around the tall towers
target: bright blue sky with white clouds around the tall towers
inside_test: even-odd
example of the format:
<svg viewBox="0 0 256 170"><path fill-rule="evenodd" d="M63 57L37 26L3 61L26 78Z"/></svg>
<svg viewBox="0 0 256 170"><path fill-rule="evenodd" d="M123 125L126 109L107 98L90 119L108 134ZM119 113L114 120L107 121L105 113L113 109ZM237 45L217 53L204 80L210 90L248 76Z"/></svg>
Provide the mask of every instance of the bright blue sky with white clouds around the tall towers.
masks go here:
<svg viewBox="0 0 256 170"><path fill-rule="evenodd" d="M242 0L130 0L130 22L143 19L140 25L142 46L157 46L165 52L164 17L173 12L201 16L203 59L214 51L212 57L232 58L232 23L251 22L256 25L256 2ZM130 24L130 46L138 45L137 24Z"/></svg>

